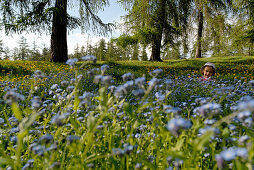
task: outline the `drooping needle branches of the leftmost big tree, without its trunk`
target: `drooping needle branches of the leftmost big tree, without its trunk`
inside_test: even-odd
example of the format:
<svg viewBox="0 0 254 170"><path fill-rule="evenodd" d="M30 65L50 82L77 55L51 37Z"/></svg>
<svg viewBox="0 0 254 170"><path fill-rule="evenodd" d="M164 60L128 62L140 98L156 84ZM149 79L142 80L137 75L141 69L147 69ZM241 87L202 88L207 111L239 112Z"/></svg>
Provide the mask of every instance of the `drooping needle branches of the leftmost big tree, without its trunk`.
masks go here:
<svg viewBox="0 0 254 170"><path fill-rule="evenodd" d="M58 9L54 4L58 0L53 1L3 1L1 2L1 16L4 21L4 27L7 33L9 32L23 32L23 31L50 31L52 22L52 14L54 12L66 16L68 20L68 28L74 29L78 26L86 28L90 25L93 30L97 32L105 33L105 29L109 30L113 26L112 24L103 24L101 20L95 14L99 9L102 9L108 4L108 1L80 1L82 10L81 19L68 14L63 14L61 9ZM77 3L77 2L74 2ZM15 8L16 10L12 10ZM91 22L92 21L92 22ZM98 24L99 23L99 24ZM101 26L97 29L97 26ZM48 30L49 29L49 30Z"/></svg>

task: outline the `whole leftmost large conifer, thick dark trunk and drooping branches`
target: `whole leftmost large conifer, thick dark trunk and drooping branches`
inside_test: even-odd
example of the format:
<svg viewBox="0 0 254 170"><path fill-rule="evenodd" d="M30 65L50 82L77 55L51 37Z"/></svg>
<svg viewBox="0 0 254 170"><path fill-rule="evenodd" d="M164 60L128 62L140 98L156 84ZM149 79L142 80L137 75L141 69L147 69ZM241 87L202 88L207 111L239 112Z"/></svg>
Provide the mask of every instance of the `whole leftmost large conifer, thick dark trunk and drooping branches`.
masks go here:
<svg viewBox="0 0 254 170"><path fill-rule="evenodd" d="M67 13L68 6L77 6L77 3L80 7L79 18ZM81 27L98 34L112 30L113 24L104 24L96 15L108 3L108 0L2 0L0 19L7 34L23 31L50 32L51 61L65 62L68 59L67 29Z"/></svg>

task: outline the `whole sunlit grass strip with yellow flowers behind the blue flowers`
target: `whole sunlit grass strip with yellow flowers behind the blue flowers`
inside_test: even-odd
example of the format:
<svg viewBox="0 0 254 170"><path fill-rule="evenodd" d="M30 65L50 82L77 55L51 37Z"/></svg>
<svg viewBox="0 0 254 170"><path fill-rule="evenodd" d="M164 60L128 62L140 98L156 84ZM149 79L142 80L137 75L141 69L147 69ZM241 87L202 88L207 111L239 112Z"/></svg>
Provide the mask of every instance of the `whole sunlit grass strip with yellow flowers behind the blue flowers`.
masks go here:
<svg viewBox="0 0 254 170"><path fill-rule="evenodd" d="M148 72L161 68L164 75L179 77L181 75L196 74L200 75L200 68L206 62L213 62L216 65L217 78L240 79L245 77L248 80L254 79L254 57L214 57L201 59L181 59L165 60L164 62L149 61L117 61L117 62L98 62L97 64L87 65L85 69L98 67L108 64L116 79L126 72L132 72L137 77ZM17 80L26 76L31 76L35 70L45 73L59 73L68 71L69 67L65 64L55 64L50 62L32 61L0 61L0 80ZM201 75L200 75L201 76Z"/></svg>

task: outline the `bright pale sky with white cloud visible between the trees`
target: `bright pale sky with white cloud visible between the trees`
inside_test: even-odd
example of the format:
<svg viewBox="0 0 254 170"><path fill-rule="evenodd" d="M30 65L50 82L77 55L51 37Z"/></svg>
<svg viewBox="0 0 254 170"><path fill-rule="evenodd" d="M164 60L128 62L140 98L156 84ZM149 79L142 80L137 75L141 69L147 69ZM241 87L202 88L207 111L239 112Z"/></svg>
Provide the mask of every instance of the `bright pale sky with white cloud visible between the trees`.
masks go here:
<svg viewBox="0 0 254 170"><path fill-rule="evenodd" d="M105 7L104 11L100 11L98 13L98 16L101 18L101 20L104 23L115 23L115 22L121 22L121 16L123 16L126 12L124 9L116 3L117 0L109 0L110 6ZM77 11L78 15L78 11ZM18 47L18 41L20 40L21 36L24 36L27 39L28 45L32 47L33 42L36 42L36 45L38 47L43 48L44 46L50 47L50 35L46 34L12 34L6 36L3 31L0 32L0 38L3 40L4 47L9 47L11 50L14 47ZM82 34L80 29L71 30L68 32L67 37L67 43L68 43L68 53L73 54L74 48L77 46L77 44L80 46L85 45L87 43L87 40L90 41L90 43L94 44L98 42L101 38L104 38L105 40L110 39L111 37L118 37L120 35L119 30L115 30L112 35L109 35L108 37L100 37L95 35L88 35L86 33Z"/></svg>

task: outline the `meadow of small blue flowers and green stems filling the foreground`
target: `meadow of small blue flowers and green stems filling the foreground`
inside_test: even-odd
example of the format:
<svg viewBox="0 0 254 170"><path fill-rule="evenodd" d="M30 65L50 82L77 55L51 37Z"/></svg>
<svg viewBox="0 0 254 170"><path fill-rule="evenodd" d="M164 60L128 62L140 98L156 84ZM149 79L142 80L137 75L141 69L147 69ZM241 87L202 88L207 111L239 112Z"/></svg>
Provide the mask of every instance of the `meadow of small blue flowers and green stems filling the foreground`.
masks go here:
<svg viewBox="0 0 254 170"><path fill-rule="evenodd" d="M248 69L200 81L191 66L136 74L81 60L1 81L0 168L253 169Z"/></svg>

